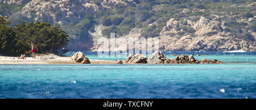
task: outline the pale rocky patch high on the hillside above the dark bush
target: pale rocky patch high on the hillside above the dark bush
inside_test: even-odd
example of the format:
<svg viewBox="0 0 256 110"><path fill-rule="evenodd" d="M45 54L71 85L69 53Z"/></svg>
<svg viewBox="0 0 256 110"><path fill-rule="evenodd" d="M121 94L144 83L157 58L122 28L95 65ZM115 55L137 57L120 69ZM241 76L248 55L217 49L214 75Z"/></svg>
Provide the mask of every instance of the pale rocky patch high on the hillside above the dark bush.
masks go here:
<svg viewBox="0 0 256 110"><path fill-rule="evenodd" d="M22 9L31 18L35 11L35 20L52 19L59 24L69 24L71 21L79 21L86 14L93 13L97 6L89 1L40 1L32 0ZM53 10L58 10L57 13ZM87 10L87 11L85 11ZM76 16L73 16L76 15Z"/></svg>

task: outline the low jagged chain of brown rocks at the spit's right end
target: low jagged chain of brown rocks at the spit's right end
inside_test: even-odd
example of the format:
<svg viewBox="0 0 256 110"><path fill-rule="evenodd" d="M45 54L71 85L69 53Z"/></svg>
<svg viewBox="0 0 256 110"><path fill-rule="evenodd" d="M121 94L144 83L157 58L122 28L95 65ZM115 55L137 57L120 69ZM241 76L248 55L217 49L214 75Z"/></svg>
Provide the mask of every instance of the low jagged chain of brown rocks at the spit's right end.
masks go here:
<svg viewBox="0 0 256 110"><path fill-rule="evenodd" d="M176 58L171 58L170 64L224 64L224 62L221 62L215 59L211 61L205 58L199 61L193 57L193 54L191 56L181 54L181 56L176 56Z"/></svg>

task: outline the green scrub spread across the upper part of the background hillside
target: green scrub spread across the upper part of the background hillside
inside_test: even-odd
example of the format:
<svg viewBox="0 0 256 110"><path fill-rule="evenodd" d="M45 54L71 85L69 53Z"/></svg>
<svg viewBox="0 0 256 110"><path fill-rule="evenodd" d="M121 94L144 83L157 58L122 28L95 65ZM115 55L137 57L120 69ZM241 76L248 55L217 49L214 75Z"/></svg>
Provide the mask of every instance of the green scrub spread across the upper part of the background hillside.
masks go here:
<svg viewBox="0 0 256 110"><path fill-rule="evenodd" d="M65 18L61 9L54 9L54 16L43 14L40 21L49 22L51 24L60 24L60 27L67 31L69 37L79 39L79 37L88 37L88 31L94 32L94 26L102 24L106 28L102 31L102 35L109 37L110 32L116 32L117 36L127 35L133 28L142 29L141 35L147 37L159 36L161 29L165 26L170 18L175 20L189 19L192 22L200 19L200 16L205 18L212 18L212 15L223 16L218 20L225 21L226 31L235 36L245 39L251 39L253 36L247 36L247 30L254 29L255 24L237 22L240 18L253 18L256 14L255 5L248 6L255 0L134 0L133 2L124 0L114 6L114 8L102 8L90 14L85 14L80 19L72 21L70 19L64 20L67 23L57 23L57 20ZM56 2L52 1L52 4ZM75 2L74 2L75 3ZM93 0L90 3L102 6L102 0ZM31 22L38 17L35 10L30 11L30 18L24 17L19 11L25 4L0 3L0 15L10 16L11 26L20 24L22 21ZM40 6L42 3L38 2L35 6ZM186 10L184 10L186 9ZM78 12L75 12L78 13ZM80 15L72 15L77 18ZM230 18L230 16L236 16ZM55 18L55 19L53 19ZM72 17L71 17L72 18ZM152 23L154 25L148 25ZM239 26L239 27L238 27ZM193 29L188 27L181 27L183 32L179 35L192 35ZM108 32L107 32L108 31ZM88 37L89 39L89 37Z"/></svg>

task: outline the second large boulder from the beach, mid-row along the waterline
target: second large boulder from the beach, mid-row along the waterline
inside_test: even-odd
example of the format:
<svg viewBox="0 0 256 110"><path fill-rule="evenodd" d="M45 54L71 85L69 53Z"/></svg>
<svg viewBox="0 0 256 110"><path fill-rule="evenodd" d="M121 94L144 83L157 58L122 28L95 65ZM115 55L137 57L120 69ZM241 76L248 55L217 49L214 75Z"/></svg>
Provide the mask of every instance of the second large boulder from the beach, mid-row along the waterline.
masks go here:
<svg viewBox="0 0 256 110"><path fill-rule="evenodd" d="M124 62L126 64L147 64L147 57L140 53L131 53Z"/></svg>

